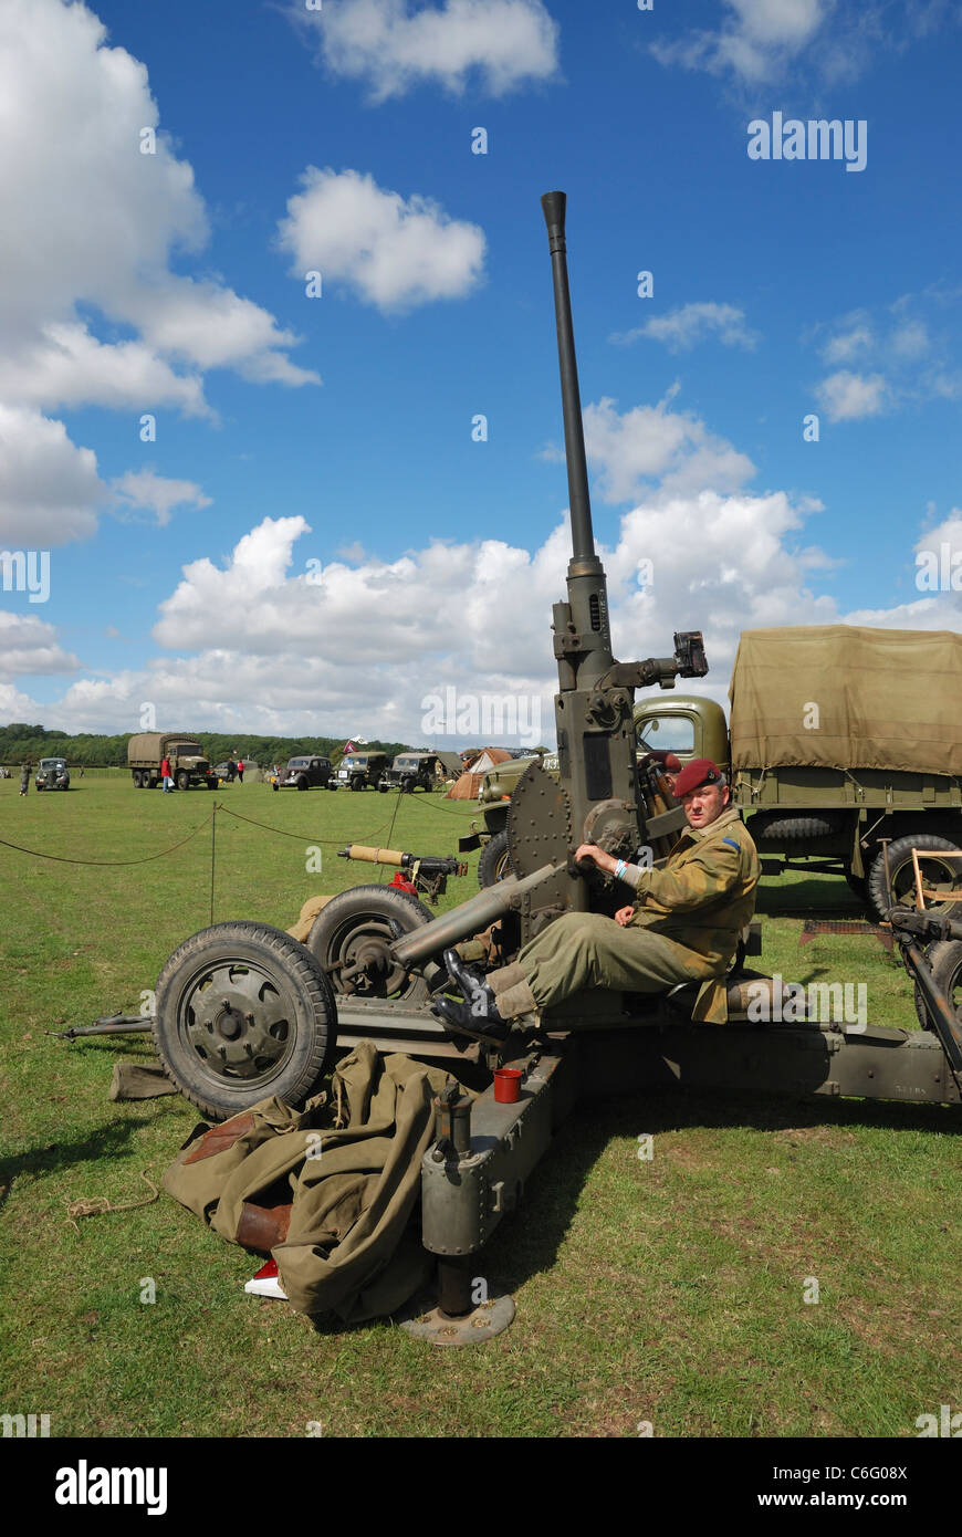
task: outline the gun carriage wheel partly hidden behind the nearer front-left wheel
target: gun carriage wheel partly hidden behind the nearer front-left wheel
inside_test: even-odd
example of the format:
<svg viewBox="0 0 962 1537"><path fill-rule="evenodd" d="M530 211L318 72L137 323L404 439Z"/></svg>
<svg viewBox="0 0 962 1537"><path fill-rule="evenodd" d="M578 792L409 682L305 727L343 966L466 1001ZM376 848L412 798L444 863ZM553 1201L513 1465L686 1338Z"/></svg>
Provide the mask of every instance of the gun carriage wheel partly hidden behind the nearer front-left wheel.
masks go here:
<svg viewBox="0 0 962 1537"><path fill-rule="evenodd" d="M436 961L424 970L409 971L393 959L390 947L432 921L433 915L410 891L355 885L321 908L307 948L338 994L420 1004L430 996L432 982L447 973Z"/></svg>

